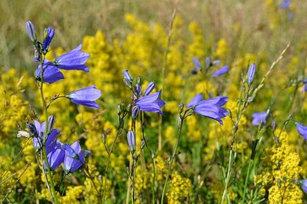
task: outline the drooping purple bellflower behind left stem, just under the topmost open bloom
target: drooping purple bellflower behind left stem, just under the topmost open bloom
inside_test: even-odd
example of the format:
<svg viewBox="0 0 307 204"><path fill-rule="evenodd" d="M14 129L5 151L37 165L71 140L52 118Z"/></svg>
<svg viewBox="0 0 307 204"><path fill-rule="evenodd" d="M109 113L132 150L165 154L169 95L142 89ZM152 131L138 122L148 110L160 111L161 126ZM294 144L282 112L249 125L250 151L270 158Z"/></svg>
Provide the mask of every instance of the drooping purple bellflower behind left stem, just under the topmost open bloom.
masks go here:
<svg viewBox="0 0 307 204"><path fill-rule="evenodd" d="M60 79L64 79L64 75L60 72L59 68L45 59L45 62L43 63L43 82L54 83ZM35 80L41 81L41 65L39 65L35 71Z"/></svg>

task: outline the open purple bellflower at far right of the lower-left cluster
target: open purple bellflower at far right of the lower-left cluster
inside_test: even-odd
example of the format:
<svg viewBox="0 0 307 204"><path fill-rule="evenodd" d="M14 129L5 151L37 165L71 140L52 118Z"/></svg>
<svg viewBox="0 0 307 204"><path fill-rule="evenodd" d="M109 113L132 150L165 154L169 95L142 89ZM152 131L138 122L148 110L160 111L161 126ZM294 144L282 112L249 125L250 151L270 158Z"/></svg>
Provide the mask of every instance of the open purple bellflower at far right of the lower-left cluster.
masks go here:
<svg viewBox="0 0 307 204"><path fill-rule="evenodd" d="M63 149L65 150L63 166L66 174L79 170L81 165L85 162L85 157L91 153L88 150L81 150L78 141L72 145L63 145Z"/></svg>

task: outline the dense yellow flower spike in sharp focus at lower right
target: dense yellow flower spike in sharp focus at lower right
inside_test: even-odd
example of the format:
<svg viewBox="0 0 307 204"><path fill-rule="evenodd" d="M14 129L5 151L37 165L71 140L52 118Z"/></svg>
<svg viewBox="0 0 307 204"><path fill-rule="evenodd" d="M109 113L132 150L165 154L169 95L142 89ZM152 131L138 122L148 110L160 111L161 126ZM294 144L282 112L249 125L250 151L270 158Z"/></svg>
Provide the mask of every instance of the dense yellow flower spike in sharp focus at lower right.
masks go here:
<svg viewBox="0 0 307 204"><path fill-rule="evenodd" d="M277 139L273 147L266 149L264 170L255 176L255 182L263 192L268 190L270 203L302 203L303 192L295 183L301 172L299 155L290 147L287 132L281 132Z"/></svg>

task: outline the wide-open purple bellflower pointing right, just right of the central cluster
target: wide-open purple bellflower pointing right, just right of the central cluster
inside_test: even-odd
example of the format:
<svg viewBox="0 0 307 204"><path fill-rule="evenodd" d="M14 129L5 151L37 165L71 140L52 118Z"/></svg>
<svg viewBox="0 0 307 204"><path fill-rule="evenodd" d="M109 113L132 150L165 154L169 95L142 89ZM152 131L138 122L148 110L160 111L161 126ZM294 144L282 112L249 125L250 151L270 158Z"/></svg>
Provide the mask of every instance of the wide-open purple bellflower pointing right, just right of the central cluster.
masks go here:
<svg viewBox="0 0 307 204"><path fill-rule="evenodd" d="M225 105L228 101L228 97L217 96L212 99L206 99L201 101L201 94L197 94L189 103L186 108L193 108L193 110L202 116L206 116L209 119L214 119L223 125L222 118L228 116L228 112L221 106Z"/></svg>

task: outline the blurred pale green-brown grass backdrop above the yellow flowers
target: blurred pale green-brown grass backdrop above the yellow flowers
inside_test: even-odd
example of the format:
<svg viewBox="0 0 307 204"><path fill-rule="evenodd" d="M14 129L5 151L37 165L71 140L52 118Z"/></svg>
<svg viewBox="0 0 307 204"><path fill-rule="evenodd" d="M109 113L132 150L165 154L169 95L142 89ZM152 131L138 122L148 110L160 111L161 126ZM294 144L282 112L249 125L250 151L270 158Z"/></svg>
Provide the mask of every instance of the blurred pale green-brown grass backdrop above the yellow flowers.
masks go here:
<svg viewBox="0 0 307 204"><path fill-rule="evenodd" d="M179 1L177 13L186 21L196 21L204 30L205 39L224 37L232 47L232 54L266 49L275 54L289 41L301 43L306 39L307 1L291 1L295 5L291 21L270 29L270 15L280 10L268 10L271 0L192 0ZM52 26L56 29L53 48L72 48L81 43L85 35L102 30L108 39L122 39L128 26L124 21L127 12L146 23L161 23L168 29L175 1L0 1L0 66L5 68L30 68L33 64L30 41L25 23L32 21L36 28ZM281 13L282 14L282 13ZM285 13L286 15L286 13ZM237 29L237 32L233 30ZM37 30L39 35L43 30ZM188 37L188 36L187 36ZM268 52L269 51L269 52Z"/></svg>

